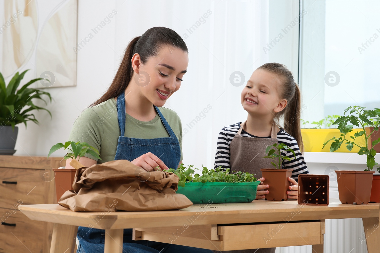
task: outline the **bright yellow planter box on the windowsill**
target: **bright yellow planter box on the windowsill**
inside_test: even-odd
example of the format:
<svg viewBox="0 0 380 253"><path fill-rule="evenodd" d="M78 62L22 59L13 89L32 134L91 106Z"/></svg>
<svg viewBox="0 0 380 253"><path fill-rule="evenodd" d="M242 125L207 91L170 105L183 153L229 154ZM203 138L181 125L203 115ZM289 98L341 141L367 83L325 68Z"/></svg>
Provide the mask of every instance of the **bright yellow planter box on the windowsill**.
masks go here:
<svg viewBox="0 0 380 253"><path fill-rule="evenodd" d="M351 140L350 136L354 136L356 132L363 131L362 128L354 128L352 132L346 135L347 140ZM310 129L310 128L301 128L302 141L304 142L304 151L305 152L330 152L331 141L326 145L324 149L323 143L327 140L330 140L332 137L339 137L340 132L338 129ZM356 138L355 143L359 146L365 146L364 135ZM348 151L346 148L347 144L345 142L340 146L337 151L334 152L350 152L357 153L359 147L355 146L351 151Z"/></svg>

